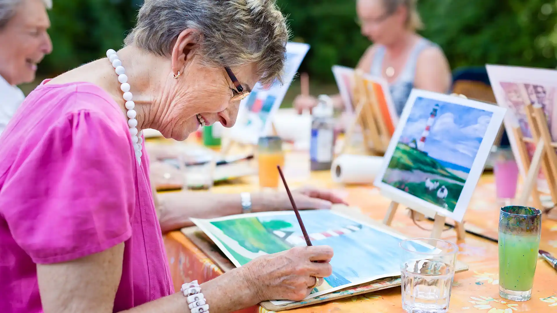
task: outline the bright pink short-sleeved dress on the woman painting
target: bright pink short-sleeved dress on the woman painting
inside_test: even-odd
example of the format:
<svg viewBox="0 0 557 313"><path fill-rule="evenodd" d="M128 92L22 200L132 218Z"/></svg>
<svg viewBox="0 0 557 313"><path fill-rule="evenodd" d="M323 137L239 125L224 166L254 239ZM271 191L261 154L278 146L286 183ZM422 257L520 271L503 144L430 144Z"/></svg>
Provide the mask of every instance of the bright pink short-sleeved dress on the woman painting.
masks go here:
<svg viewBox="0 0 557 313"><path fill-rule="evenodd" d="M121 242L114 312L172 294L149 160L123 111L94 84L45 82L0 136L0 312L42 312L36 264Z"/></svg>

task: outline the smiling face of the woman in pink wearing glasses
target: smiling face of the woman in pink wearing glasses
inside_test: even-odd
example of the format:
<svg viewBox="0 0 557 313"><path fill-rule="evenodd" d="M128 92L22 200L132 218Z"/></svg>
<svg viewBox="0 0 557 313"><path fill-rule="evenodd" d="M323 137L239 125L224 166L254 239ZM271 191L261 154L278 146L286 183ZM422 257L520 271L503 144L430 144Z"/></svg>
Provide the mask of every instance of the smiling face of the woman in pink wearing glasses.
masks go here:
<svg viewBox="0 0 557 313"><path fill-rule="evenodd" d="M251 91L258 80L254 65L231 71L244 91ZM236 123L240 100L233 99L238 91L224 68L209 69L194 56L178 79L170 78L167 89L162 101L168 105L163 106L166 109L158 126L166 138L184 140L202 125L219 122L230 128Z"/></svg>

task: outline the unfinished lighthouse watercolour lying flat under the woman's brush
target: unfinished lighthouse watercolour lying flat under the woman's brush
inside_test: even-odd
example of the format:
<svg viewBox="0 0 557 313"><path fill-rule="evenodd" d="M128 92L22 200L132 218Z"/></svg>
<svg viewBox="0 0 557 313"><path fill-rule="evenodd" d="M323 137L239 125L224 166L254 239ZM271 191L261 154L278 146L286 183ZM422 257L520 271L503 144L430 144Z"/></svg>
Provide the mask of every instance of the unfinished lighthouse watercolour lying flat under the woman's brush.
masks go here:
<svg viewBox="0 0 557 313"><path fill-rule="evenodd" d="M400 276L400 241L405 237L330 210L301 211L314 245L331 246L333 275L309 296L317 297L380 278ZM305 246L293 211L259 212L213 219L193 219L237 267L258 256ZM427 251L428 247L416 247ZM275 305L291 301L272 301Z"/></svg>

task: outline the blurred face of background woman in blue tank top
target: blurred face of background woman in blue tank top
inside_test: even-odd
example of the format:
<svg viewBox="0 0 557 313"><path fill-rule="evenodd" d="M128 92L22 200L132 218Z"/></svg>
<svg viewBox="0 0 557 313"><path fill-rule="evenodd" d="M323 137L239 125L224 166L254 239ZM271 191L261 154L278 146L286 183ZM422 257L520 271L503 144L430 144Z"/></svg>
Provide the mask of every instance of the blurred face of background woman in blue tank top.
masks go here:
<svg viewBox="0 0 557 313"><path fill-rule="evenodd" d="M405 29L407 9L399 6L393 13L387 12L384 0L358 0L356 13L361 27L361 34L370 41L381 45L390 45L398 40L398 34Z"/></svg>

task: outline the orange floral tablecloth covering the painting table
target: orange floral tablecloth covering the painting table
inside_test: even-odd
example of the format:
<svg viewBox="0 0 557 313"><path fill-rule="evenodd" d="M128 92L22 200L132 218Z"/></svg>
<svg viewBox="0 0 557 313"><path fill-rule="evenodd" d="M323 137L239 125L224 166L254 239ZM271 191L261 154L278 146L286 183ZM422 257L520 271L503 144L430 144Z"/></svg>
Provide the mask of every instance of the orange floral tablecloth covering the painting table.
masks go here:
<svg viewBox="0 0 557 313"><path fill-rule="evenodd" d="M379 190L369 186L343 187L331 181L329 172L309 172L307 155L290 153L286 156L285 175L292 187L304 184L338 190L346 196L351 206L356 206L368 216L382 220L390 200L380 195ZM214 187L216 193L237 193L257 190L257 178L248 177L238 184ZM472 201L468 207L465 221L466 228L497 238L500 204L495 201L495 184L491 174L481 178ZM424 228L431 228L432 223L418 222ZM557 256L557 221L544 220L541 233L540 249ZM408 237L422 237L429 234L418 228L408 217L407 211L399 209L393 219L392 227ZM456 242L456 233L452 229L443 232L443 239ZM221 275L222 271L209 260L192 242L180 232L171 232L165 236L174 287L179 290L184 281L211 280ZM557 271L541 258L538 261L534 279L532 299L525 302L513 302L499 296L499 261L497 244L486 239L466 234L459 242L458 260L466 262L470 270L455 275L449 312L557 312ZM398 262L398 260L395 260ZM262 307L243 310L248 312L268 312ZM320 305L301 307L289 312L314 313L361 313L361 312L404 312L400 303L400 287L390 288L348 297L342 300L324 302Z"/></svg>

